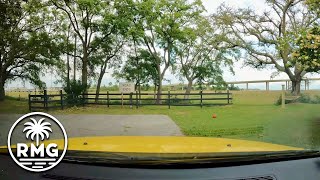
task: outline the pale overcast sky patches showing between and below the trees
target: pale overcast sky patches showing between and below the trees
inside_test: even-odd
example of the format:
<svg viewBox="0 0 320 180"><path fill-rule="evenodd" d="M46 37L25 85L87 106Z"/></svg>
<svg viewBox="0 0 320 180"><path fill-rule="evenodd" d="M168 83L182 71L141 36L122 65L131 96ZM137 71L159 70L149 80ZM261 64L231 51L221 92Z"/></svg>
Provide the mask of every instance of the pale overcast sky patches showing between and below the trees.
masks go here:
<svg viewBox="0 0 320 180"><path fill-rule="evenodd" d="M264 0L202 0L203 5L207 9L208 13L215 12L216 8L221 3L226 3L227 5L233 7L251 7L256 9L258 12L262 12L265 8ZM225 81L244 81L244 80L266 80L270 79L271 73L275 72L274 69L265 69L265 70L256 70L249 67L243 67L243 62L239 61L235 63L234 66L235 75L231 74L227 69L224 70L224 79ZM109 82L115 83L115 80L112 78L112 70L108 71L109 73L105 74L102 84L108 84ZM319 77L315 75L307 75L307 77ZM169 71L167 71L166 79L171 79L171 82L179 83L179 80L175 78ZM54 74L46 74L42 78L46 83L47 87L57 86L53 82L56 80ZM288 79L288 76L285 73L280 74L274 79ZM164 82L167 84L167 82ZM8 87L23 87L21 81L16 81L8 84ZM30 88L30 84L26 83L26 87ZM243 88L244 86L239 86ZM313 82L310 86L312 89L320 89L320 82ZM250 85L250 88L264 88L263 84L253 84ZM271 89L280 89L281 83L272 83Z"/></svg>

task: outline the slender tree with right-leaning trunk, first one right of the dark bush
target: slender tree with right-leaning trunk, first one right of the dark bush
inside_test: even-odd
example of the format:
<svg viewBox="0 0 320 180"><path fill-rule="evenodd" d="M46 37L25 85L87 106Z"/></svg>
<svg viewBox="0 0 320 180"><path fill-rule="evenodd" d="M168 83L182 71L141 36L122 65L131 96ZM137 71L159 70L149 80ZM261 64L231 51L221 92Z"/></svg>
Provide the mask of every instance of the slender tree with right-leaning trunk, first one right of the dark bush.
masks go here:
<svg viewBox="0 0 320 180"><path fill-rule="evenodd" d="M99 68L98 82L96 86L96 102L99 97L101 82L109 67L119 68L124 56L123 47L127 45L128 31L128 14L123 14L121 11L122 0L116 0L109 3L107 9L103 14L103 21L100 24L99 34L93 42L94 47L92 57L90 58L89 65L91 70L94 71L96 67ZM130 16L130 14L129 14Z"/></svg>

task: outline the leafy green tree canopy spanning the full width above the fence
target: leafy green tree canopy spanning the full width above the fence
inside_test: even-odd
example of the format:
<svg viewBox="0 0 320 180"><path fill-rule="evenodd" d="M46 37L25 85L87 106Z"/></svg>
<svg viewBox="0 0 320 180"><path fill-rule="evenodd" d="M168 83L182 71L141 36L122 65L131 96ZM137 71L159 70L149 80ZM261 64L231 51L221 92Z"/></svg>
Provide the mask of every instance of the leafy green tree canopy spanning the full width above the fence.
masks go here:
<svg viewBox="0 0 320 180"><path fill-rule="evenodd" d="M264 11L222 4L211 15L201 0L0 2L0 100L17 78L43 86L46 69L70 84L70 57L81 87L97 81L99 94L113 69L137 87L153 84L158 103L168 71L187 80L186 94L194 83L224 85L235 59L286 73L294 94L319 72L319 0L266 0Z"/></svg>

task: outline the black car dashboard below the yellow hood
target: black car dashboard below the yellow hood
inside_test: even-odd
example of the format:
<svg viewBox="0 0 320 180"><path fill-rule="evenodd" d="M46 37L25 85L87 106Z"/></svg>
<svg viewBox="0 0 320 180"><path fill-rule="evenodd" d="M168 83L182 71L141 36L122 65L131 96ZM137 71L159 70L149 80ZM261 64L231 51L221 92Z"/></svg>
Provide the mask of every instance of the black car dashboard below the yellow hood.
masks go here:
<svg viewBox="0 0 320 180"><path fill-rule="evenodd" d="M320 180L320 158L226 167L129 168L76 164L62 161L45 173L31 173L0 155L0 179L208 179L208 180Z"/></svg>

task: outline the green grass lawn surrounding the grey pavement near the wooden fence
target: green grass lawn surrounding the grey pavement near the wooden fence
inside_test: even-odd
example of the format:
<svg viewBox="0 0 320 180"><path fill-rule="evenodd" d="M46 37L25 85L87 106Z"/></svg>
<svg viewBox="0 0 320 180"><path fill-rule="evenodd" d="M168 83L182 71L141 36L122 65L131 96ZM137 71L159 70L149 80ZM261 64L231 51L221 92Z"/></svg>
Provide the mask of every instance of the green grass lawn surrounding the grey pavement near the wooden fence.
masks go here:
<svg viewBox="0 0 320 180"><path fill-rule="evenodd" d="M320 95L320 91L308 91ZM119 106L74 107L56 114L165 114L187 136L228 137L257 140L303 148L320 149L320 105L290 104L275 106L280 91L233 92L233 105L214 107L144 106L130 109ZM0 103L0 113L25 113L26 101L8 99ZM212 118L216 114L217 118Z"/></svg>

